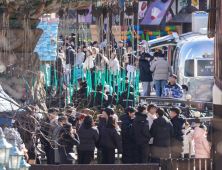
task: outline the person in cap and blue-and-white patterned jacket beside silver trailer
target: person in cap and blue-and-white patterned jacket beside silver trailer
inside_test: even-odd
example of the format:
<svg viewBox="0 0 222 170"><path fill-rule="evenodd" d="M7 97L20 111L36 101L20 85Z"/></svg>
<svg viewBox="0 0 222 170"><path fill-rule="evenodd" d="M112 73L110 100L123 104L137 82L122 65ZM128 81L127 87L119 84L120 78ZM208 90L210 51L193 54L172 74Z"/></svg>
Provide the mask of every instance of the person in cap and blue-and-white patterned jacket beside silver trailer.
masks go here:
<svg viewBox="0 0 222 170"><path fill-rule="evenodd" d="M175 74L170 75L169 83L163 88L162 97L181 98L183 96L183 89L176 81L177 76Z"/></svg>

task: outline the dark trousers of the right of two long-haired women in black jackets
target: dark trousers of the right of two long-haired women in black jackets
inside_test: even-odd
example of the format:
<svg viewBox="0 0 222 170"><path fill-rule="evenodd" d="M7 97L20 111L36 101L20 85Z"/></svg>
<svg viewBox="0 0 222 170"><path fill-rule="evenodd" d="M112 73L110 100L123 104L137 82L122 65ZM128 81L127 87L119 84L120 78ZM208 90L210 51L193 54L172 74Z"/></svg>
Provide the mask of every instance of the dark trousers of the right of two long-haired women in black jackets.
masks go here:
<svg viewBox="0 0 222 170"><path fill-rule="evenodd" d="M102 164L115 164L115 149L103 147L102 156Z"/></svg>

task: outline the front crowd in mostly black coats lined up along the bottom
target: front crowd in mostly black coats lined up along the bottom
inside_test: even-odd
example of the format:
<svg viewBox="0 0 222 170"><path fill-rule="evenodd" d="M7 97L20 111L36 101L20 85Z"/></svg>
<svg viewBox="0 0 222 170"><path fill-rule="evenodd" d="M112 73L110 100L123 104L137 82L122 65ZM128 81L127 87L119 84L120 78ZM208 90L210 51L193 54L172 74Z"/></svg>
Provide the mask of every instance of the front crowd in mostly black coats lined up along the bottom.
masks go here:
<svg viewBox="0 0 222 170"><path fill-rule="evenodd" d="M54 165L90 164L96 151L101 164L115 164L116 154L122 154L123 164L160 163L160 158L188 158L189 153L210 158L206 126L196 124L193 130L177 106L170 109L170 119L155 104L128 107L120 117L106 107L96 116L97 126L93 110L76 113L71 104L63 111L50 108L44 119L33 106L17 116L14 127L28 150L29 163L37 158L38 140L47 164Z"/></svg>

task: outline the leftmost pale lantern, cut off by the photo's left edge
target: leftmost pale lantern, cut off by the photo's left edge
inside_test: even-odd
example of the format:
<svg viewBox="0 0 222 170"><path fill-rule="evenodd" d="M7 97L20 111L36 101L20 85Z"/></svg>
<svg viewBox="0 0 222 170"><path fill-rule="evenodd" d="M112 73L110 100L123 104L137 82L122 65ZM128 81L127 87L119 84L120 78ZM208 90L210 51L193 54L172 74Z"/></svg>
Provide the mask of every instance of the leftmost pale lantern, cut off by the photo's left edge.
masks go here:
<svg viewBox="0 0 222 170"><path fill-rule="evenodd" d="M9 162L9 153L12 145L5 139L5 135L0 127L0 170L5 170L5 165Z"/></svg>

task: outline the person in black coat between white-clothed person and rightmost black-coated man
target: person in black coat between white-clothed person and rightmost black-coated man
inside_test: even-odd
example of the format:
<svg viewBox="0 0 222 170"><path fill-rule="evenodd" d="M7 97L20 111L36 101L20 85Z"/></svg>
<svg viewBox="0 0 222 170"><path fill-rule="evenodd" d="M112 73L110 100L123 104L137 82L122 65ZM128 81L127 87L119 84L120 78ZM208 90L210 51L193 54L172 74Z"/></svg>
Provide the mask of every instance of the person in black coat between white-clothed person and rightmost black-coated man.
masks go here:
<svg viewBox="0 0 222 170"><path fill-rule="evenodd" d="M150 129L151 136L154 137L151 163L160 163L160 158L170 157L170 138L173 136L173 125L164 116L164 109L157 109L156 114L158 118L153 121Z"/></svg>

